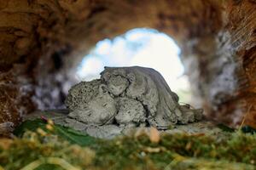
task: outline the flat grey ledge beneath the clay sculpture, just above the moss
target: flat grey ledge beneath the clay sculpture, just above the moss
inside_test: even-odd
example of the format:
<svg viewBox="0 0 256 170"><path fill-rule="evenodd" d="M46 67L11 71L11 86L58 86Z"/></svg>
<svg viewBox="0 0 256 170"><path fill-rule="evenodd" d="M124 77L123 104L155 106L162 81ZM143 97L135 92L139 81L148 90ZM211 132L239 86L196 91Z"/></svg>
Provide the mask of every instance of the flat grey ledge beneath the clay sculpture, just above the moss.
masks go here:
<svg viewBox="0 0 256 170"><path fill-rule="evenodd" d="M35 111L26 116L24 120L34 120L37 118L47 118L66 127L72 127L81 133L89 134L90 136L101 139L113 139L114 137L123 134L129 135L131 132L143 130L148 131L150 127L119 127L116 125L86 125L82 122L77 122L73 119L67 120L67 110L53 110L53 111ZM170 129L160 130L160 133L189 133L189 134L208 134L212 137L224 136L225 132L217 126L216 122L202 120L201 122L189 123L187 125L173 125Z"/></svg>

